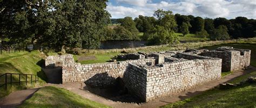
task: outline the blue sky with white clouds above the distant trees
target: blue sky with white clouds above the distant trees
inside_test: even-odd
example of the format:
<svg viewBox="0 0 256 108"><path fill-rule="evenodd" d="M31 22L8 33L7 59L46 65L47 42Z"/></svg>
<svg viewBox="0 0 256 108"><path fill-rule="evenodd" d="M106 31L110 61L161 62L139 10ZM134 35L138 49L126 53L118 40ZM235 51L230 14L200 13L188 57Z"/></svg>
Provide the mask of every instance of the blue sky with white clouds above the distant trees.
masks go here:
<svg viewBox="0 0 256 108"><path fill-rule="evenodd" d="M154 10L164 9L203 18L256 19L256 0L109 0L106 9L112 18L152 16Z"/></svg>

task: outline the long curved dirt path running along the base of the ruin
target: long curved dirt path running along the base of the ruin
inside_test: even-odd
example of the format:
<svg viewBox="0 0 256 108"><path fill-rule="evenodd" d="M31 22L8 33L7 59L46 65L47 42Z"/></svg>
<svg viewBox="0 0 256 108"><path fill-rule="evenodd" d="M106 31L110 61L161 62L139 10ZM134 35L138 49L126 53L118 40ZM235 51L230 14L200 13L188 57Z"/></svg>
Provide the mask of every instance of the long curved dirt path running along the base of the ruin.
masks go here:
<svg viewBox="0 0 256 108"><path fill-rule="evenodd" d="M255 71L256 68L255 67L249 67L246 70L238 70L238 71L234 71L234 73L232 73L231 75L227 75L223 78L221 78L220 80L214 80L212 82L208 82L205 83L203 85L198 85L196 88L188 90L188 91L183 91L180 92L178 95L172 95L170 97L165 97L165 98L161 98L161 99L156 99L153 100L151 102L148 103L142 103L142 104L134 104L134 103L121 103L121 102L113 102L112 100L97 96L89 91L84 91L82 90L82 87L84 87L83 84L81 83L69 83L69 84L46 84L45 86L56 86L59 88L65 88L68 89L74 93L77 93L78 95L85 97L87 99L93 100L95 102L98 103L102 103L105 105L109 105L112 107L159 107L159 106L163 106L169 103L174 103L177 102L179 100L185 99L185 98L189 98L192 96L196 96L199 95L200 93L212 89L214 87L216 87L217 85L219 85L220 83L226 83L227 81L231 81L233 78L241 76L243 74L247 74L250 73L252 71Z"/></svg>

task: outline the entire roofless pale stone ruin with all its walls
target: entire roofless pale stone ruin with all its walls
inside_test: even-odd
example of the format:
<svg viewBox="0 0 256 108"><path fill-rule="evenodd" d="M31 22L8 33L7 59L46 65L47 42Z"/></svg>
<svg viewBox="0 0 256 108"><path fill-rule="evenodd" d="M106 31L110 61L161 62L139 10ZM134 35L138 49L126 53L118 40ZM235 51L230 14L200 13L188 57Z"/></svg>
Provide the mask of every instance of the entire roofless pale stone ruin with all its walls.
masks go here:
<svg viewBox="0 0 256 108"><path fill-rule="evenodd" d="M62 83L84 82L93 88L109 87L122 78L129 92L149 102L218 80L221 70L246 68L250 65L250 54L250 50L232 47L215 51L140 52L119 55L126 61L95 64L76 63L71 54L66 54L49 56L45 66L51 68L62 62Z"/></svg>

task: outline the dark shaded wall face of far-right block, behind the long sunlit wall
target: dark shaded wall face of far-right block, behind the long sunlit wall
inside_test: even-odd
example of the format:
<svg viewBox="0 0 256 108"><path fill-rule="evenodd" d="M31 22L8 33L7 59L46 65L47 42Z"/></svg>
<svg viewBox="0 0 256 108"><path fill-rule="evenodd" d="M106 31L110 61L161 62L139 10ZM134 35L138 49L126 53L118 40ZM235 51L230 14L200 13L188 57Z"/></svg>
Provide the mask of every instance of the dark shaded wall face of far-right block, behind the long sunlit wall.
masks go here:
<svg viewBox="0 0 256 108"><path fill-rule="evenodd" d="M203 52L199 55L202 56L210 56L222 59L222 68L221 71L232 71L231 70L231 52L226 51L210 51L210 52Z"/></svg>

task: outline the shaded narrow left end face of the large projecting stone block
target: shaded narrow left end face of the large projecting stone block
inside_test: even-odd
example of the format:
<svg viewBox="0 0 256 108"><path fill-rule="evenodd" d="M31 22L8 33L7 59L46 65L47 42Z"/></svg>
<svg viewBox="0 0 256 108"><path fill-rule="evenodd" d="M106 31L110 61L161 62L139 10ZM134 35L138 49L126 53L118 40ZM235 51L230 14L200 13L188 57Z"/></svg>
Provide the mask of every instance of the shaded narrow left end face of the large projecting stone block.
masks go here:
<svg viewBox="0 0 256 108"><path fill-rule="evenodd" d="M142 100L146 100L146 80L147 71L136 64L129 64L124 73L123 81L125 86L129 88L129 92L138 96Z"/></svg>

